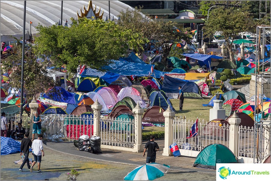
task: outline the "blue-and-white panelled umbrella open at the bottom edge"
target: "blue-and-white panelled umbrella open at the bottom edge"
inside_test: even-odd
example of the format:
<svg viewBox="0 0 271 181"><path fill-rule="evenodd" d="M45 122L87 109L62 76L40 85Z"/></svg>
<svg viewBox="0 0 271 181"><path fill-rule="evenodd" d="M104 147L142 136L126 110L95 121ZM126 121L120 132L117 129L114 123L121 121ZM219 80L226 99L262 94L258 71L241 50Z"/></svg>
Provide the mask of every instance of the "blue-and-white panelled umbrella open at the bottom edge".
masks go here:
<svg viewBox="0 0 271 181"><path fill-rule="evenodd" d="M170 166L165 164L147 163L128 173L124 180L154 180L168 173L169 168Z"/></svg>

